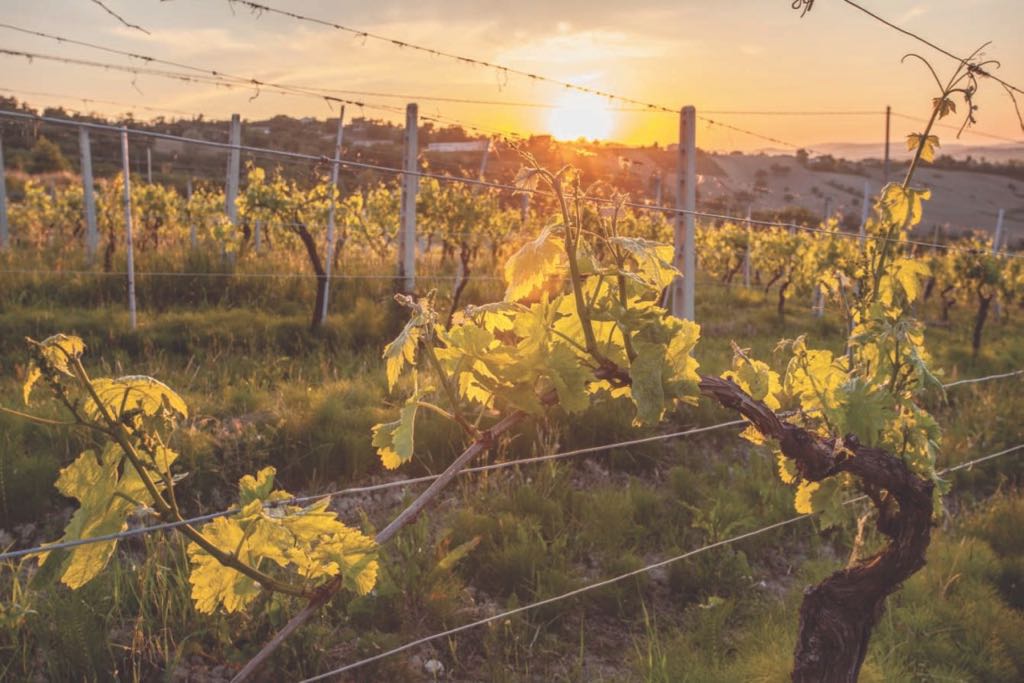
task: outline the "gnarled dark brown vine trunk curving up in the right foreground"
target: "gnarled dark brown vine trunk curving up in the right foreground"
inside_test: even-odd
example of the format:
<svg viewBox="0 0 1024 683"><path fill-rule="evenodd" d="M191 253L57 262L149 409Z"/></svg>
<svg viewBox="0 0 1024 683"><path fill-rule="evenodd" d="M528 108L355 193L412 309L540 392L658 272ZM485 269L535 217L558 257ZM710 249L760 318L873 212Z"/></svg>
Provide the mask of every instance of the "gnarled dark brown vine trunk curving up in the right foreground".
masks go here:
<svg viewBox="0 0 1024 683"><path fill-rule="evenodd" d="M842 472L852 474L878 509L877 526L889 544L805 592L794 652L795 683L856 681L886 598L925 566L932 529L932 482L911 472L899 458L861 445L852 436L843 439L845 449L837 449L834 439L783 422L728 380L703 377L700 390L776 439L783 455L796 462L801 477L821 481Z"/></svg>

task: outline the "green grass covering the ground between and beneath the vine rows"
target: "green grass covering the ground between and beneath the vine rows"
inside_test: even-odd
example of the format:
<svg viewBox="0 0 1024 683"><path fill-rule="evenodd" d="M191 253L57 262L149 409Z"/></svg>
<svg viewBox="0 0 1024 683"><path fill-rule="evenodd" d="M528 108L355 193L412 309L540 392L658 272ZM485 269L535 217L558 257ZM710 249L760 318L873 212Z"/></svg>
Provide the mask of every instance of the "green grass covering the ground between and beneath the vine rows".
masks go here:
<svg viewBox="0 0 1024 683"><path fill-rule="evenodd" d="M197 419L174 436L190 472L183 484L187 512L222 507L238 478L264 464L278 467L294 492L385 476L370 445L370 426L394 414L380 349L402 313L387 288L339 286L327 327L311 333L308 282L202 283L143 285L139 330L131 332L120 285L84 276L3 281L0 402L20 402L23 337L76 333L89 347L86 365L93 374L153 375L193 408ZM485 300L487 287L471 292L470 300ZM843 343L831 313L815 318L809 305L796 301L784 319L773 297L766 303L758 291L709 285L698 289L697 301L703 372L728 366L730 340L768 360L783 337L806 333L837 350ZM1009 321L990 324L977 358L970 352L970 312L954 310L950 327L928 329L935 366L949 378L1024 367L1021 312L1008 311ZM931 317L931 309L923 316ZM933 410L945 429L940 465L1021 441L1020 386L958 388L948 404L936 396ZM58 415L51 408L42 412ZM702 401L679 409L663 428L733 417ZM503 439L489 458L647 433L631 420L623 401L573 420L556 411ZM69 506L53 480L87 443L77 432L0 417L0 528L24 531L19 543L56 538ZM416 460L402 471L409 476L439 471L463 442L456 429L425 418L417 425L417 445ZM1024 645L1014 638L1024 631L1024 508L1014 486L1022 474L1020 458L1011 456L956 476L949 504L955 516L944 521L929 566L890 602L862 680L1019 677L1015 657ZM993 495L994 502L985 503ZM267 676L316 674L756 528L792 514L792 496L775 478L770 458L728 429L461 478L385 551L378 589L364 598L339 596L282 648ZM371 530L401 503L399 494L355 499L342 508L343 517ZM844 563L853 531L852 521L823 535L811 524L785 527L413 653L437 657L471 680L782 679L800 592ZM446 553L465 543L478 545L453 569L439 570ZM0 618L20 614L17 628L0 630L0 679L154 680L175 670L198 677L218 666L237 668L297 608L275 599L260 601L246 615L198 614L182 553L173 536L127 542L99 579L75 593L56 586L15 590L29 581L30 561L0 572ZM22 607L27 611L18 612ZM399 655L353 680L423 676L410 656Z"/></svg>

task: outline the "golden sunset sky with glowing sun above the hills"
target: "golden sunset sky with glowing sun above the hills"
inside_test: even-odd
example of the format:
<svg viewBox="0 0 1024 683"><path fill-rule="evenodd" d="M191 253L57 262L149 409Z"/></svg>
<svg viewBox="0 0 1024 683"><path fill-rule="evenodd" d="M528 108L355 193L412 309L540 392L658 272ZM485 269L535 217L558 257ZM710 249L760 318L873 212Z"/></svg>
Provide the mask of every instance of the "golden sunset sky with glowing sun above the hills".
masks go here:
<svg viewBox="0 0 1024 683"><path fill-rule="evenodd" d="M859 0L894 23L957 54L986 41L1007 81L1024 88L1024 3L1020 0ZM674 113L575 93L524 77L430 56L285 16L256 14L227 0L105 0L129 29L89 0L0 0L0 22L246 78L293 86L376 94L346 116L399 121L409 101L422 115L492 133L601 137L629 144L676 141ZM824 142L881 145L884 110L927 117L936 85L907 52L931 60L940 76L955 62L872 20L843 0L816 0L804 17L791 0L266 0L266 4L360 31L542 74L809 146ZM0 48L118 65L129 57L0 28ZM28 93L48 93L47 95ZM243 120L288 114L328 118L317 97L226 89L138 75L28 60L0 54L0 94L35 105L120 114L127 105ZM384 96L395 95L395 96ZM483 99L499 104L426 99ZM83 102L112 100L118 104ZM1024 105L1024 96L1020 96ZM996 83L983 81L975 103L984 133L1024 140L1017 114ZM525 104L529 104L526 106ZM537 106L540 105L540 106ZM779 116L728 112L857 112ZM961 108L963 111L963 108ZM157 112L136 110L136 118ZM951 122L947 119L947 122ZM923 124L893 119L899 140ZM955 132L937 131L947 143ZM701 121L697 145L753 151L784 145ZM970 144L999 143L965 134Z"/></svg>

